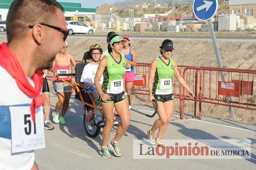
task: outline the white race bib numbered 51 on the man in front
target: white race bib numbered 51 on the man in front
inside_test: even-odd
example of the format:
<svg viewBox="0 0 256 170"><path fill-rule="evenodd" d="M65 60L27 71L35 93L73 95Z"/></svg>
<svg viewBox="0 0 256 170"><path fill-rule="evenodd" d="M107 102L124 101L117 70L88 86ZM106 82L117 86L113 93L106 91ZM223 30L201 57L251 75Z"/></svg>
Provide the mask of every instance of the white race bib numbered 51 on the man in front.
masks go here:
<svg viewBox="0 0 256 170"><path fill-rule="evenodd" d="M30 106L9 107L12 128L12 153L45 148L43 107L35 110L32 121Z"/></svg>

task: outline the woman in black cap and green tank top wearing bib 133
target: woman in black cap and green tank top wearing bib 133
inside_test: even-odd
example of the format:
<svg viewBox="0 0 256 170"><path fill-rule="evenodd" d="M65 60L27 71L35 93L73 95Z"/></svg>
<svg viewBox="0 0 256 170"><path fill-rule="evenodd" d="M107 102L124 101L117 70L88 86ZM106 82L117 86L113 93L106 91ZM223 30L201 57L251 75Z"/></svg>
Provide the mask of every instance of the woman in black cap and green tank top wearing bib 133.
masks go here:
<svg viewBox="0 0 256 170"><path fill-rule="evenodd" d="M194 94L181 77L175 60L170 59L172 55L173 42L165 39L160 47L161 56L154 59L149 71L149 101L155 99L158 103L159 119L155 121L152 128L147 132L148 140L153 145L166 147L161 138L166 131L172 111L174 96L172 93L172 77L175 75L178 82L185 87L189 97L193 98ZM155 131L159 129L155 138Z"/></svg>

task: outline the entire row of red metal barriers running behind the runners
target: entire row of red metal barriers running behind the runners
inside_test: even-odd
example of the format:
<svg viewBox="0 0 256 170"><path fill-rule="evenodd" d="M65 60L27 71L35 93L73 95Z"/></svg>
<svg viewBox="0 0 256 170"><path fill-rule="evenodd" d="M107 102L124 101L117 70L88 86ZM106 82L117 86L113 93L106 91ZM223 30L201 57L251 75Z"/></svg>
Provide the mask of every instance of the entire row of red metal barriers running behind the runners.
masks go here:
<svg viewBox="0 0 256 170"><path fill-rule="evenodd" d="M82 61L76 61L82 63ZM135 81L133 94L149 95L149 63L137 63L134 67ZM70 72L73 73L73 66ZM176 80L172 79L174 98L179 100L179 119L184 117L185 101L194 101L194 116L201 118L201 104L210 103L215 105L232 106L243 109L256 110L256 70L229 69L219 67L193 67L178 65L178 70L188 86L195 94L195 98L189 98L185 88ZM221 79L223 72L225 81ZM48 80L52 80L53 73L46 70ZM71 79L73 84L75 78ZM199 111L197 116L197 102Z"/></svg>

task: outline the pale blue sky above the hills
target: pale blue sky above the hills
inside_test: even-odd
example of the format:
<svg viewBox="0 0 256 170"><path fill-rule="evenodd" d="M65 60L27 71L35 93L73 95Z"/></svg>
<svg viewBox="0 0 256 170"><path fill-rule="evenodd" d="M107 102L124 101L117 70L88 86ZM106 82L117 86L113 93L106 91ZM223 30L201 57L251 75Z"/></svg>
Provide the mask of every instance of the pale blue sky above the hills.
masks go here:
<svg viewBox="0 0 256 170"><path fill-rule="evenodd" d="M83 8L96 8L102 4L123 2L125 0L57 0L59 2L80 2Z"/></svg>

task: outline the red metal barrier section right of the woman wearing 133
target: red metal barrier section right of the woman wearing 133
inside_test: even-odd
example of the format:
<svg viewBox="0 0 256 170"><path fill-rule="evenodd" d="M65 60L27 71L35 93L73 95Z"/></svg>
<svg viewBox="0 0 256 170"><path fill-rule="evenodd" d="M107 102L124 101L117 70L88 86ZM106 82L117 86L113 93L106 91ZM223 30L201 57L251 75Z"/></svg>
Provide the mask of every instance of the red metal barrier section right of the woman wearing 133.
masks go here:
<svg viewBox="0 0 256 170"><path fill-rule="evenodd" d="M221 79L222 72L225 81ZM256 70L219 67L187 67L184 69L183 77L187 83L191 83L189 78L192 76L195 77L195 81L192 82L195 87L195 98L189 98L183 88L182 119L185 118L185 100L195 101L195 117L196 104L199 102L199 118L202 103L256 110Z"/></svg>

